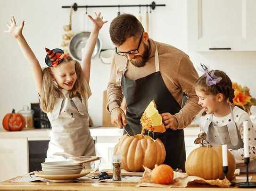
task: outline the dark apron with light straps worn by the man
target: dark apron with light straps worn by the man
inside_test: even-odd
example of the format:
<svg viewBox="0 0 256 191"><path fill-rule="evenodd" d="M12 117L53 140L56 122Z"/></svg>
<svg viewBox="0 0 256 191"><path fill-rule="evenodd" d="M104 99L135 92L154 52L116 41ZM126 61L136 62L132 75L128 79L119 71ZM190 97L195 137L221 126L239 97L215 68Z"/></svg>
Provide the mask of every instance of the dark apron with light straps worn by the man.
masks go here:
<svg viewBox="0 0 256 191"><path fill-rule="evenodd" d="M127 105L127 128L129 132L133 132L133 135L136 135L141 133L141 115L153 99L160 114L168 112L174 115L181 110L181 106L165 86L159 71L157 49L155 52L155 73L137 80L131 80L124 76L127 65L128 61L123 70L121 87ZM148 135L148 132L146 134ZM149 136L161 139L165 145L166 156L164 164L170 165L173 169L179 168L185 171L186 152L183 130L166 129L164 133L154 133L154 135L149 133Z"/></svg>

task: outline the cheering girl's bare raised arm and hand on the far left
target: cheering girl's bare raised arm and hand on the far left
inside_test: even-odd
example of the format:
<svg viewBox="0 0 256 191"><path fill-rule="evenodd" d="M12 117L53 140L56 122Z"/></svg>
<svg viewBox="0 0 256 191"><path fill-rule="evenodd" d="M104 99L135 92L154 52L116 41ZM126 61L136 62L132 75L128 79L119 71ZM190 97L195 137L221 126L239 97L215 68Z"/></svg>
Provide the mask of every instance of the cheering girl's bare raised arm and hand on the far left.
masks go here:
<svg viewBox="0 0 256 191"><path fill-rule="evenodd" d="M25 59L29 62L32 68L36 89L40 94L42 89L42 70L39 61L35 57L33 51L31 50L24 36L22 35L24 21L21 23L20 26L17 26L15 18L12 17L12 19L10 19L10 23L7 23L7 27L8 30L4 32L10 33L14 38L16 38Z"/></svg>

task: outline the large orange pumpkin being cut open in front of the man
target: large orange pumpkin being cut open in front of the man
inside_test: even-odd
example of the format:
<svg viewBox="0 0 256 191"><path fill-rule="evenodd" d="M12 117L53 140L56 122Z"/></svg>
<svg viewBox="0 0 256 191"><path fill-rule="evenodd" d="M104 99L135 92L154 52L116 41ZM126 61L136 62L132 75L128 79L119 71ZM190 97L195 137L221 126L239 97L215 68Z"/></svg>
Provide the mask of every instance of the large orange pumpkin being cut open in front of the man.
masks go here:
<svg viewBox="0 0 256 191"><path fill-rule="evenodd" d="M121 167L129 172L143 172L142 165L153 169L165 160L165 146L157 138L137 134L124 135L114 148L114 154L121 154Z"/></svg>

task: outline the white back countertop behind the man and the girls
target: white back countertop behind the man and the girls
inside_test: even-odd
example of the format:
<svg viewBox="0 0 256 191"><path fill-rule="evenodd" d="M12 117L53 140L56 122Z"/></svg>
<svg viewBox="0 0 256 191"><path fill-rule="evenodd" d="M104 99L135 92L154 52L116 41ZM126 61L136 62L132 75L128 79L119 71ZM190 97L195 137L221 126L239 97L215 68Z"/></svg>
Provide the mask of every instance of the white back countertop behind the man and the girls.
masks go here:
<svg viewBox="0 0 256 191"><path fill-rule="evenodd" d="M123 129L116 127L92 127L90 128L92 137L121 137ZM197 136L199 127L187 127L184 129L185 136ZM50 139L50 129L34 129L21 131L6 131L0 129L0 138L28 138L29 140Z"/></svg>

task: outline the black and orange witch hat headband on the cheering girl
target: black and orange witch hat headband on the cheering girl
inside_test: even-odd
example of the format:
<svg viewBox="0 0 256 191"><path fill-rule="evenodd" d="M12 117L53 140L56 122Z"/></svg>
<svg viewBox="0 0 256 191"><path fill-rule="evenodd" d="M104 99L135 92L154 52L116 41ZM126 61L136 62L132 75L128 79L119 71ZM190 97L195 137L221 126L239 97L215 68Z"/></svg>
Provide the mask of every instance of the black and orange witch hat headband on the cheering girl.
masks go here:
<svg viewBox="0 0 256 191"><path fill-rule="evenodd" d="M44 48L47 55L45 57L45 63L49 67L57 67L61 61L63 61L63 58L66 58L66 54L63 52L63 50L59 48L55 49L48 49Z"/></svg>

